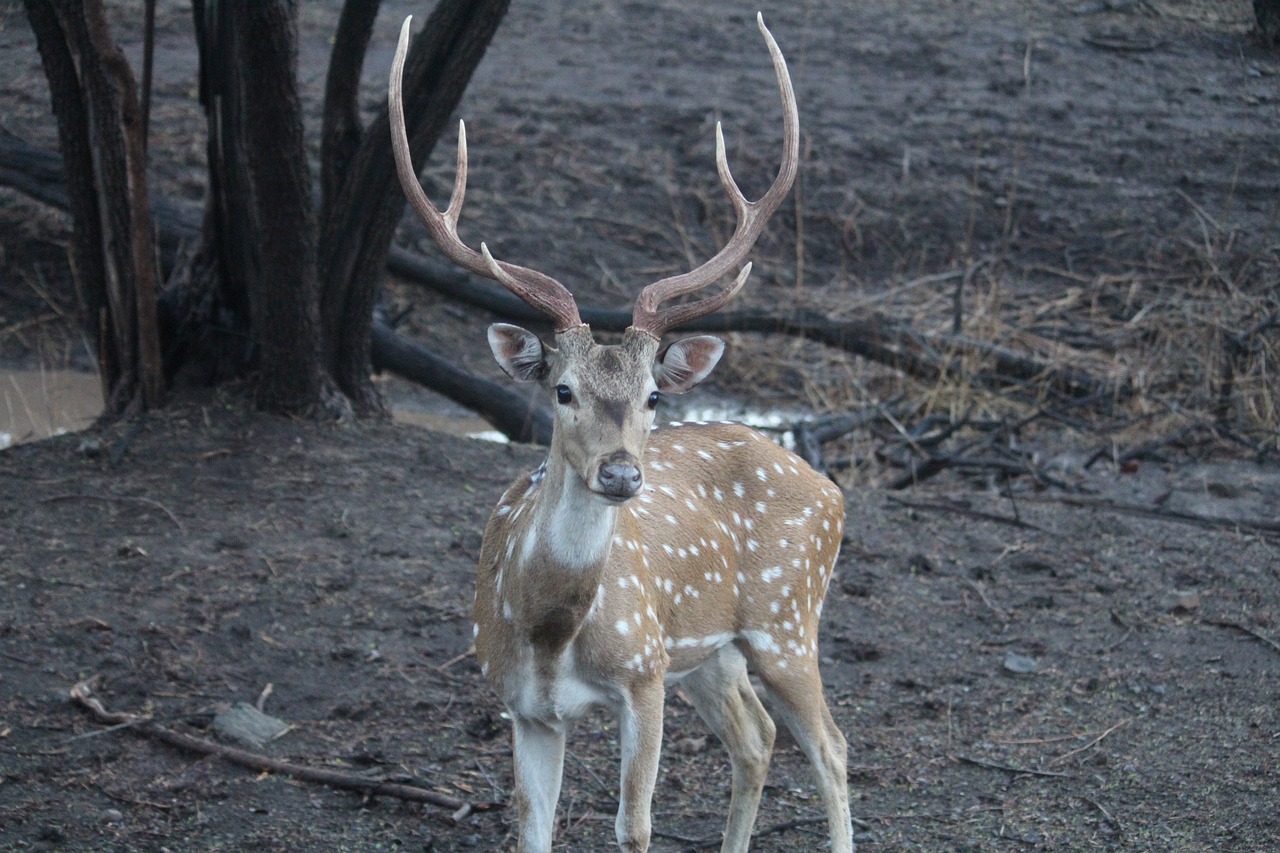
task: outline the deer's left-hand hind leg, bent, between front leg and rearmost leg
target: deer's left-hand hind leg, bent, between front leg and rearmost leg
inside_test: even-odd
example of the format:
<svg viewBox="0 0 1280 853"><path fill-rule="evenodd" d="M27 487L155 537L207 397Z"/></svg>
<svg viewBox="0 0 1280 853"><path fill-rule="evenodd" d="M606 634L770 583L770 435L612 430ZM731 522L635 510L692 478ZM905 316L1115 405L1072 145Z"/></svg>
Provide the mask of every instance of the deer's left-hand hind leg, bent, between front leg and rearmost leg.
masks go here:
<svg viewBox="0 0 1280 853"><path fill-rule="evenodd" d="M773 720L751 688L746 658L733 646L721 647L681 679L680 689L728 749L732 761L733 786L721 853L746 853L773 753L777 731Z"/></svg>

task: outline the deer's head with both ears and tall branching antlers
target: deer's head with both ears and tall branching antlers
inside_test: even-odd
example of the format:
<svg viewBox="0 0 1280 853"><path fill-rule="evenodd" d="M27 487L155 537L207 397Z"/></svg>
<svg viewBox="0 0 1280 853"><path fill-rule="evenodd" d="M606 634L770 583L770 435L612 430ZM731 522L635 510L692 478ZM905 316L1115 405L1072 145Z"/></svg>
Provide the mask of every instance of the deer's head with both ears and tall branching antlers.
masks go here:
<svg viewBox="0 0 1280 853"><path fill-rule="evenodd" d="M782 97L782 167L773 186L759 201L749 201L742 195L730 173L724 134L717 123L716 167L737 214L733 236L696 269L645 287L635 302L632 324L622 343L599 345L580 319L577 304L563 284L543 273L494 260L485 243L480 243L477 252L458 238L457 223L467 178L466 127L461 122L457 175L449 206L439 211L422 192L410 158L401 92L411 20L406 19L401 29L388 96L392 145L401 184L413 211L449 260L502 283L554 320L554 347L543 345L531 332L502 323L489 328L489 346L507 375L522 382L540 382L549 391L556 424L552 459L563 460L593 494L612 502L627 501L644 484L640 457L659 393L689 391L707 378L724 351L718 338L698 336L676 341L659 352L663 332L717 311L737 295L751 272L751 265L744 264L748 252L795 181L800 149L799 115L782 51L763 18L759 18ZM740 265L737 275L710 295L664 305L716 284Z"/></svg>

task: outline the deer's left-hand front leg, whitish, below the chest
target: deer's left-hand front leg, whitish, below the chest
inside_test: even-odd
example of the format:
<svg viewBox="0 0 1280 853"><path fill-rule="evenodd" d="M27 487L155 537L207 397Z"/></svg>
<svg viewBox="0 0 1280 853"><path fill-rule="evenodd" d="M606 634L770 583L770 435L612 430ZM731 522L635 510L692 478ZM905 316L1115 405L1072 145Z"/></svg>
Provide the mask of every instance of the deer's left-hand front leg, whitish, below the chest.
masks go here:
<svg viewBox="0 0 1280 853"><path fill-rule="evenodd" d="M518 853L549 853L564 774L564 730L512 713Z"/></svg>

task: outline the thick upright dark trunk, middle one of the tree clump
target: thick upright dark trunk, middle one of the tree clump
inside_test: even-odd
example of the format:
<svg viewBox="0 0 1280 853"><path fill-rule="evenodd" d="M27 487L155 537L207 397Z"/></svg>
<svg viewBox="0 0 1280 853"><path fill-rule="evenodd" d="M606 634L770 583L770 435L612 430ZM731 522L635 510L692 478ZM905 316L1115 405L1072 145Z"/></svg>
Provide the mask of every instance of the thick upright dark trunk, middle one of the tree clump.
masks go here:
<svg viewBox="0 0 1280 853"><path fill-rule="evenodd" d="M206 219L228 305L252 330L257 405L342 415L320 364L316 218L297 91L294 0L195 4L209 117ZM207 248L207 247L206 247Z"/></svg>

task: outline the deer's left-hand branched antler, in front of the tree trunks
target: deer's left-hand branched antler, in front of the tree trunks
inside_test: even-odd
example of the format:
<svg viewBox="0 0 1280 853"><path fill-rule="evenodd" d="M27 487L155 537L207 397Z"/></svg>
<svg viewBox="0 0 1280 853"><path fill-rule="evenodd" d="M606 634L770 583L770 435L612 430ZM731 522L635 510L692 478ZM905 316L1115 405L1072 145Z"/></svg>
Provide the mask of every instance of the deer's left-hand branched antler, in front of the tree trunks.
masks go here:
<svg viewBox="0 0 1280 853"><path fill-rule="evenodd" d="M392 150L396 154L396 172L399 175L404 196L408 199L413 213L426 227L431 240L440 247L444 256L462 269L492 278L499 282L508 291L522 298L538 311L549 315L556 320L556 330L563 332L577 325L582 320L577 313L577 302L573 295L550 275L539 273L525 266L495 261L484 248L477 252L470 248L458 237L458 215L462 213L462 200L466 196L467 186L467 133L466 126L458 122L458 167L453 179L453 195L449 197L449 206L442 214L431 204L431 200L422 192L422 186L417 182L417 170L413 169L413 158L408 149L408 132L404 128L404 96L402 91L402 78L404 74L404 58L408 55L408 35L413 17L404 18L401 27L399 44L396 46L396 59L392 60L392 76L387 92L387 110L392 126Z"/></svg>

